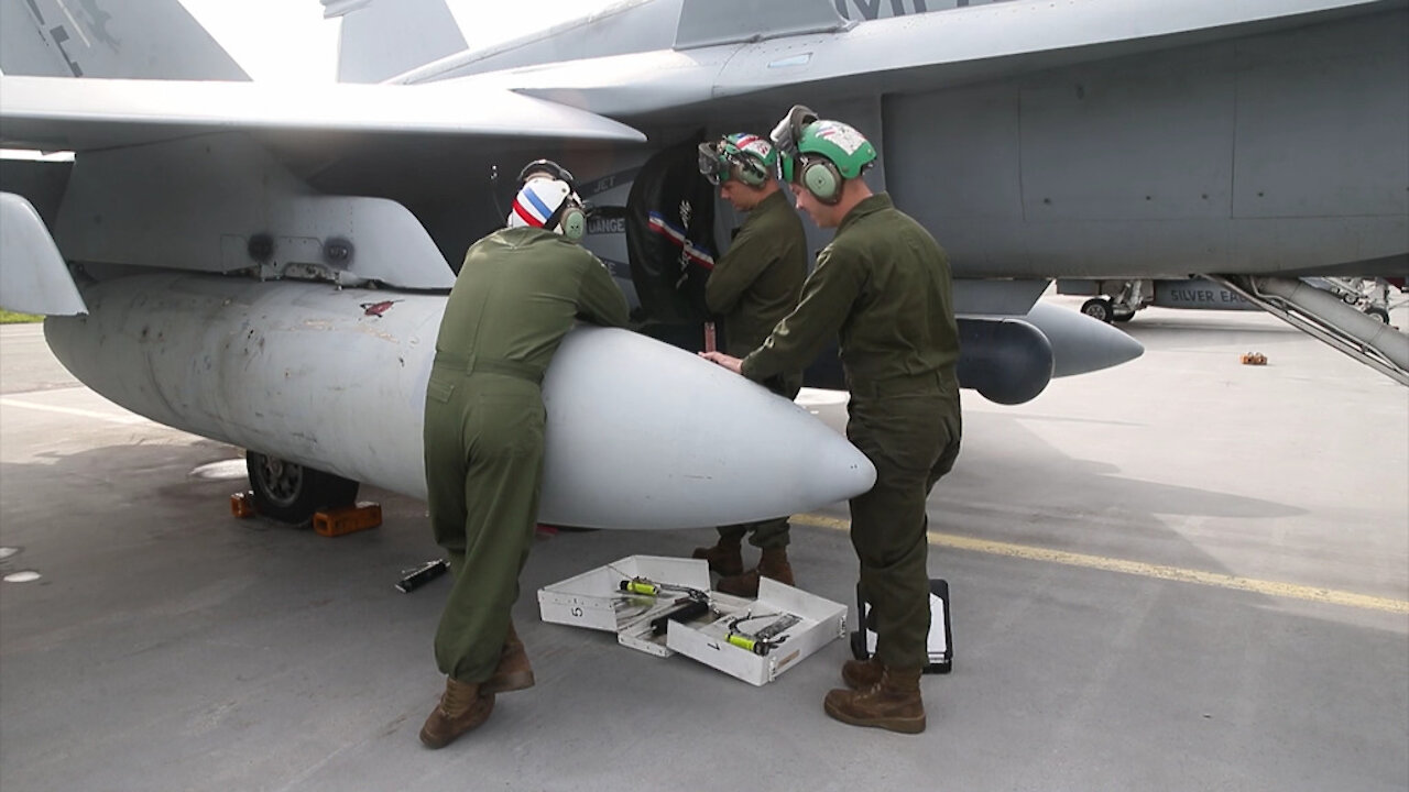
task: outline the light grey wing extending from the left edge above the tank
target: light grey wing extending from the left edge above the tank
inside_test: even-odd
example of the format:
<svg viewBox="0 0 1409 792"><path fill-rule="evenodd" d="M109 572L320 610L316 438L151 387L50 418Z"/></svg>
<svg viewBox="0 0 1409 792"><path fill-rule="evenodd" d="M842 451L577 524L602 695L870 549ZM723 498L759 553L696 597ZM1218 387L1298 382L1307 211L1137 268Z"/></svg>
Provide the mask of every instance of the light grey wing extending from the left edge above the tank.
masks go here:
<svg viewBox="0 0 1409 792"><path fill-rule="evenodd" d="M10 147L83 151L213 131L645 140L610 118L490 86L0 75L0 141Z"/></svg>

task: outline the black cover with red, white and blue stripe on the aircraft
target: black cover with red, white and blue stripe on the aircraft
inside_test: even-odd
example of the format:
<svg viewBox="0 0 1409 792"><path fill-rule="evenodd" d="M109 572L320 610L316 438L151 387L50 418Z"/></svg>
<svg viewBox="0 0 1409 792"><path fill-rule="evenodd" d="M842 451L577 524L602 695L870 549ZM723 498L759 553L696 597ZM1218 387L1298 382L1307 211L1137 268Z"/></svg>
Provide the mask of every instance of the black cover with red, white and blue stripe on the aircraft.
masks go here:
<svg viewBox="0 0 1409 792"><path fill-rule="evenodd" d="M704 282L714 261L714 187L699 173L699 141L648 159L627 197L631 280L651 335L699 349L709 318ZM664 335L662 335L664 334ZM676 340L675 335L688 338Z"/></svg>

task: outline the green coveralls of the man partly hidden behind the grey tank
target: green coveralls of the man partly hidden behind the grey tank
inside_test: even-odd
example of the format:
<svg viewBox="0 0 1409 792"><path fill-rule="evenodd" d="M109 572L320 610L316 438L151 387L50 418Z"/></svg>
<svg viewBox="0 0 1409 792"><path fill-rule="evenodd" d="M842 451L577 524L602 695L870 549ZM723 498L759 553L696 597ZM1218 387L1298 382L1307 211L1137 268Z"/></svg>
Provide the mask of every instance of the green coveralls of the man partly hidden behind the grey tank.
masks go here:
<svg viewBox="0 0 1409 792"><path fill-rule="evenodd" d="M797 307L806 278L807 237L788 193L778 190L748 213L704 283L704 304L724 317L724 352L741 358L757 349L774 326ZM769 386L781 396L796 397L802 366L783 372ZM788 517L721 526L719 536L738 543L747 531L752 531L748 543L754 547L788 547Z"/></svg>

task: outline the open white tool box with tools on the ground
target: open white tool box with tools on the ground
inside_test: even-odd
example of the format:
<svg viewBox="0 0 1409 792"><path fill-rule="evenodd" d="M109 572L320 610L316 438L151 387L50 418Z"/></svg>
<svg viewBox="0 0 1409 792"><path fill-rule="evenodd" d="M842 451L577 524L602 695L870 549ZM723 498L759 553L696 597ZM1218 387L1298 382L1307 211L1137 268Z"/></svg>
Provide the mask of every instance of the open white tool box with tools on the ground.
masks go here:
<svg viewBox="0 0 1409 792"><path fill-rule="evenodd" d="M764 685L847 633L847 606L764 578L758 599L709 589L709 564L631 555L538 589L544 621L606 630Z"/></svg>

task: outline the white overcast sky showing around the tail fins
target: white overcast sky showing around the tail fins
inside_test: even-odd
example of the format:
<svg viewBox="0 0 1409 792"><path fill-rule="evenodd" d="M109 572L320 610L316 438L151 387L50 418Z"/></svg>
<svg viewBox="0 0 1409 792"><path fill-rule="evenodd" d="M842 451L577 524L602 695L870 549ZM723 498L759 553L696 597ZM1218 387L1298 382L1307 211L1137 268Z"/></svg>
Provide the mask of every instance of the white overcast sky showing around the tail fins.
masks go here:
<svg viewBox="0 0 1409 792"><path fill-rule="evenodd" d="M382 3L396 0L379 0ZM447 0L476 47L576 18L613 0ZM256 80L337 79L337 20L318 0L182 0Z"/></svg>

